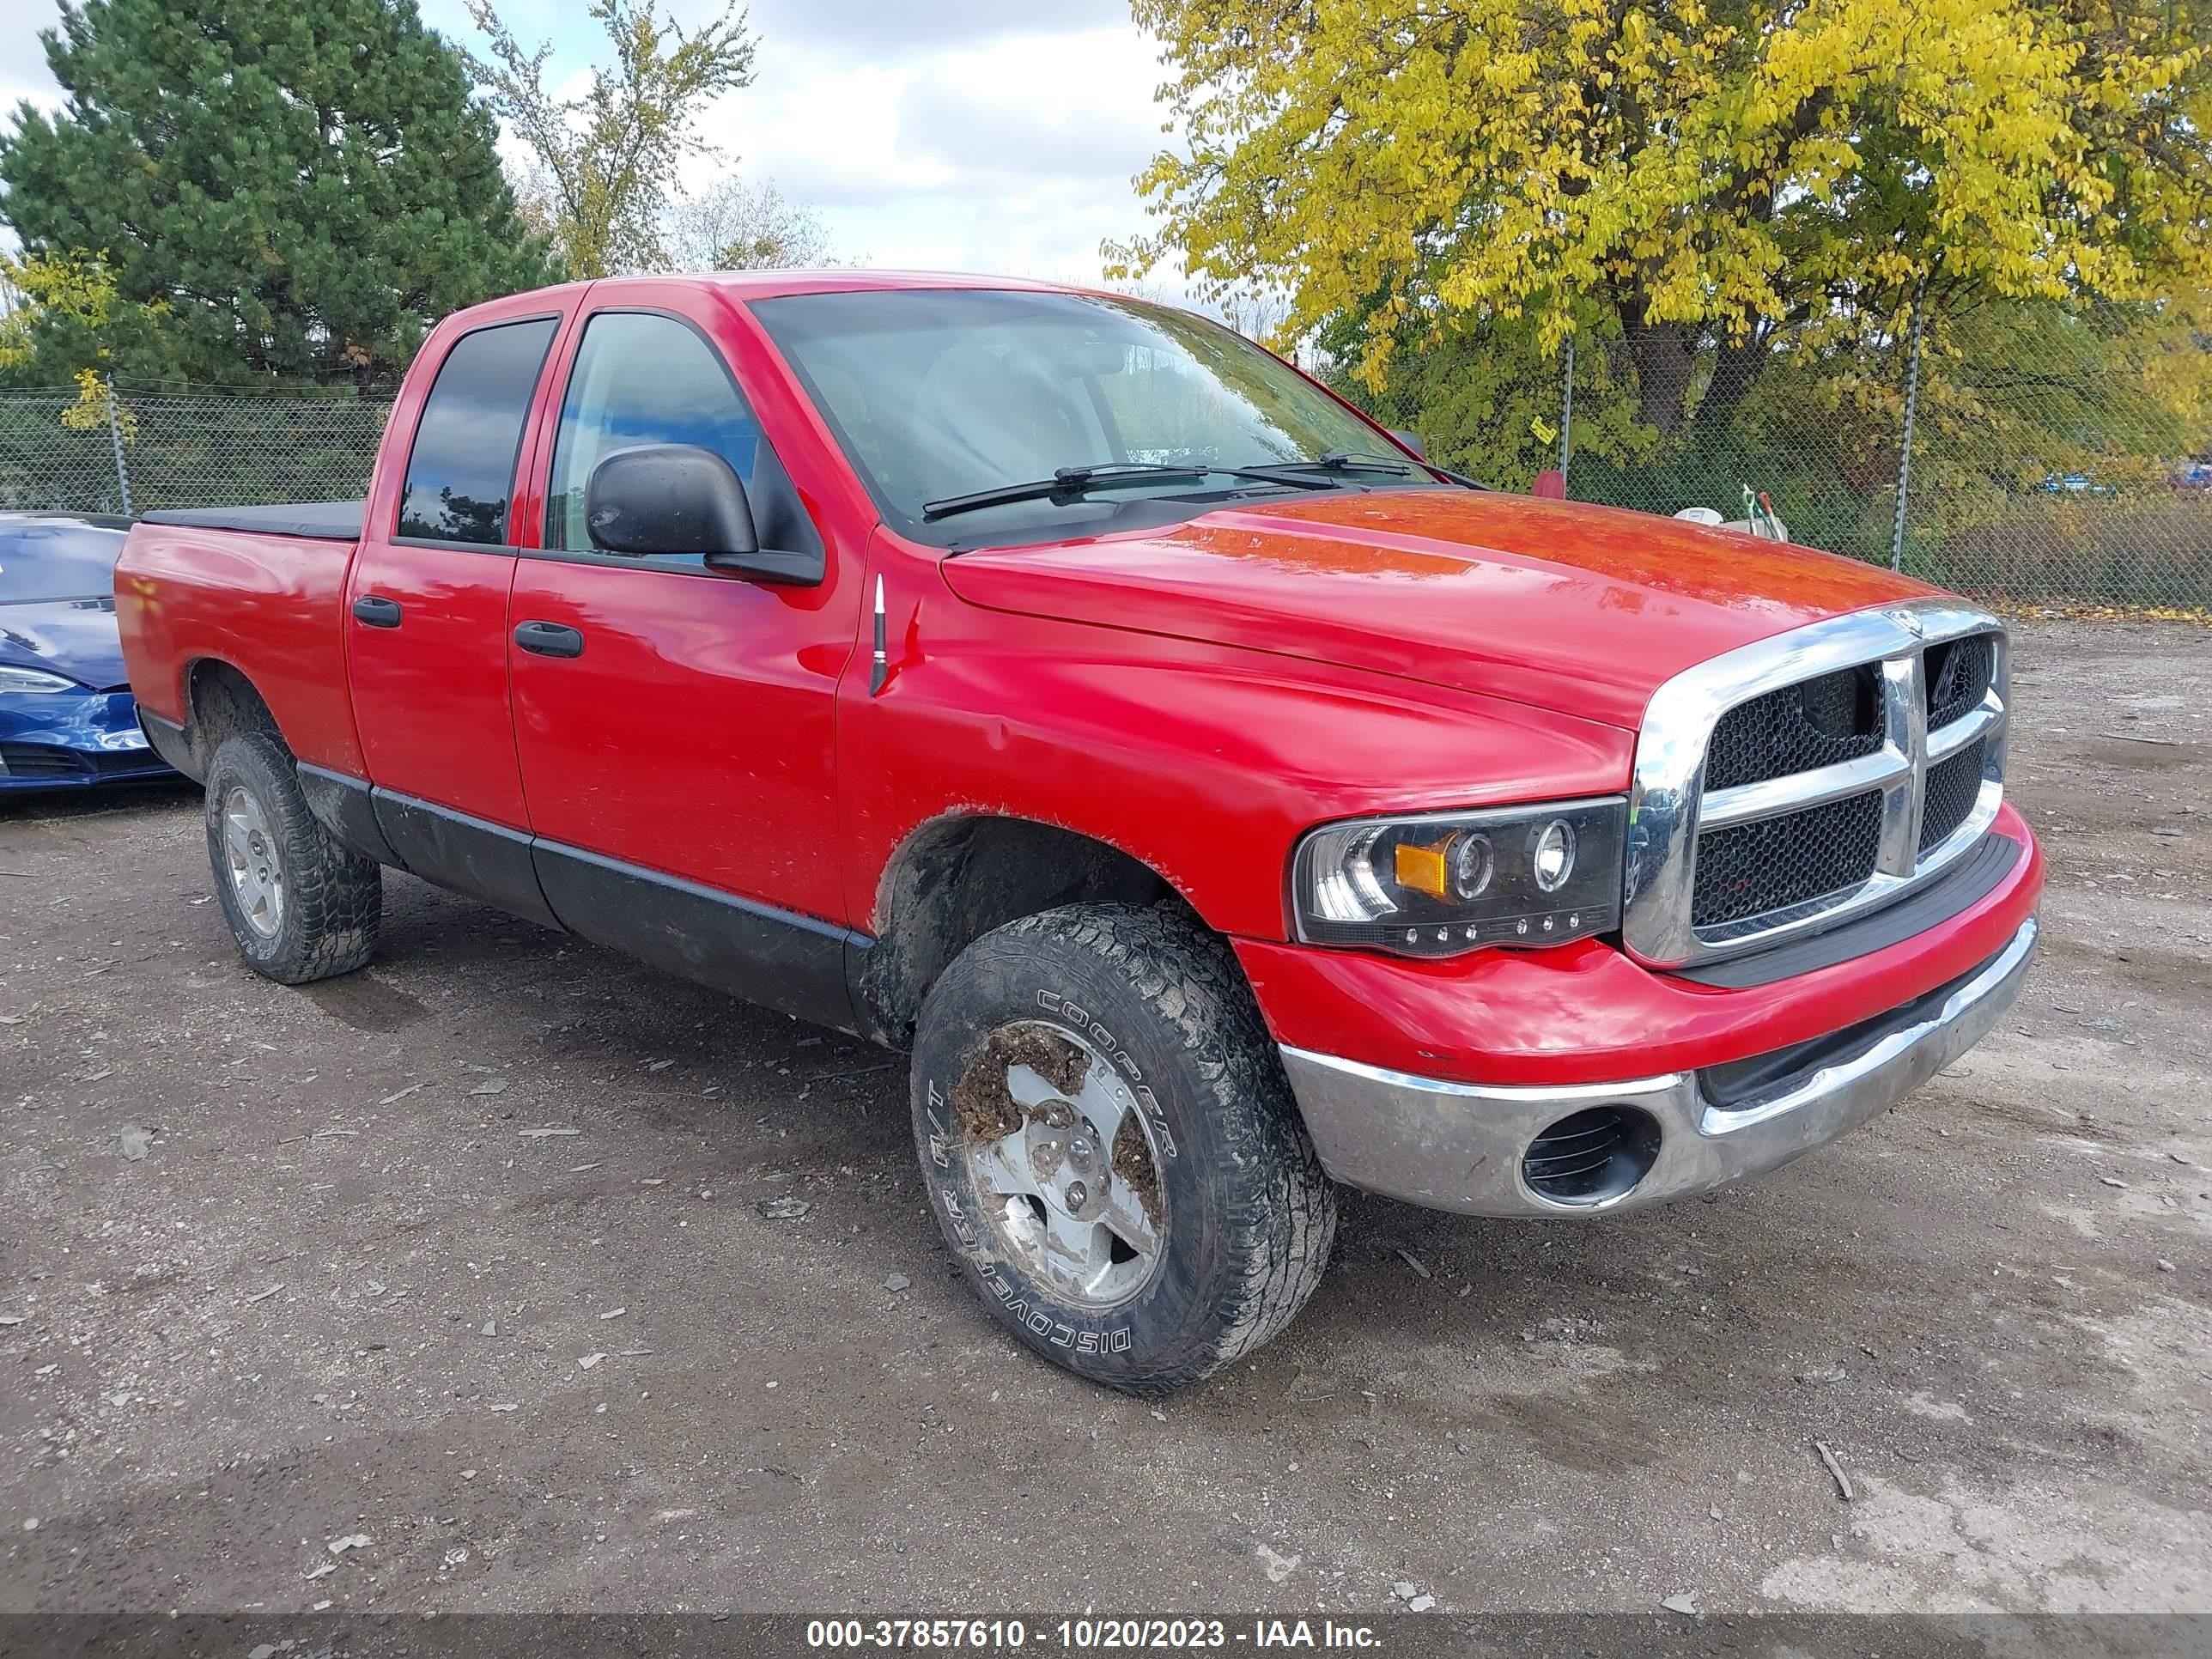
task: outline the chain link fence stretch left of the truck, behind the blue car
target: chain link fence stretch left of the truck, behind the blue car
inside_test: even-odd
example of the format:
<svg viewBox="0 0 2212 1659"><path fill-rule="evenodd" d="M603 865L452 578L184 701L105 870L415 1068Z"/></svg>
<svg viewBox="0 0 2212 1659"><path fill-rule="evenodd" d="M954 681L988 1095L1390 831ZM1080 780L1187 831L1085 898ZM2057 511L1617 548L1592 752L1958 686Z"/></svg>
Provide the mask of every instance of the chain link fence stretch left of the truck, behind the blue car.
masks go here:
<svg viewBox="0 0 2212 1659"><path fill-rule="evenodd" d="M352 500L389 400L261 392L0 392L0 509Z"/></svg>

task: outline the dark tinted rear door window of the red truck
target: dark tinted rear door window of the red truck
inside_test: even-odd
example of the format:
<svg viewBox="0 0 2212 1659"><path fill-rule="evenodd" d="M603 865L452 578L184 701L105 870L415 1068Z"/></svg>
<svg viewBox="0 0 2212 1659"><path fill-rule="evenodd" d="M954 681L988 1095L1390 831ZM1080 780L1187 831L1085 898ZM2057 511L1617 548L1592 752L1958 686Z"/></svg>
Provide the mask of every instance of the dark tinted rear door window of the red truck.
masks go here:
<svg viewBox="0 0 2212 1659"><path fill-rule="evenodd" d="M553 319L544 316L480 327L447 352L407 456L400 535L507 542L522 422L551 343Z"/></svg>

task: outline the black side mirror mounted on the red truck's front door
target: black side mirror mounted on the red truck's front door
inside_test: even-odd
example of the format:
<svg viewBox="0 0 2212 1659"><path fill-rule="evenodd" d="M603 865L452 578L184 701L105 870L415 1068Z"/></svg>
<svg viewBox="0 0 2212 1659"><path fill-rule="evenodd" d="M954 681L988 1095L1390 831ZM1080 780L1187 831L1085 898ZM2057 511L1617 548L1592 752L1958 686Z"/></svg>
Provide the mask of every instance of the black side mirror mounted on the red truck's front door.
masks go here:
<svg viewBox="0 0 2212 1659"><path fill-rule="evenodd" d="M761 551L752 502L728 460L697 445L617 449L591 469L584 524L608 553L697 553L757 582L821 582L821 560Z"/></svg>

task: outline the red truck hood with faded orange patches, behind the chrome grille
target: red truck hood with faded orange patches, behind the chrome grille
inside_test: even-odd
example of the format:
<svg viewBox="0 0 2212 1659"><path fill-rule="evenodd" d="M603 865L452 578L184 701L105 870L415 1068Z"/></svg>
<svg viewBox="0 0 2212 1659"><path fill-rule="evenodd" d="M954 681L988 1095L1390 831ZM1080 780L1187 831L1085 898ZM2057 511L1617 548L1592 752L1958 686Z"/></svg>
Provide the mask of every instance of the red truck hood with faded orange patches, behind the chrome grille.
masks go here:
<svg viewBox="0 0 2212 1659"><path fill-rule="evenodd" d="M1889 571L1613 507L1376 491L1172 531L960 553L969 604L1369 668L1637 728L1723 650L1931 593Z"/></svg>

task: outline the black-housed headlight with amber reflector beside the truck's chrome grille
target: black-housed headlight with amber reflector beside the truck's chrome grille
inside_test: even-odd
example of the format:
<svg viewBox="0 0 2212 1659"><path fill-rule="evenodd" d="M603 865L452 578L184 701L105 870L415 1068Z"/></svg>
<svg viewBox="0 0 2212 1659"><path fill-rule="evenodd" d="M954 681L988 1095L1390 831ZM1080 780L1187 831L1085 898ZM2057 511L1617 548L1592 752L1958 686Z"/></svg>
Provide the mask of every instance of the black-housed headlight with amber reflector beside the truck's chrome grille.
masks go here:
<svg viewBox="0 0 2212 1659"><path fill-rule="evenodd" d="M1292 858L1298 938L1458 956L1604 933L1621 920L1626 827L1610 796L1312 830Z"/></svg>

